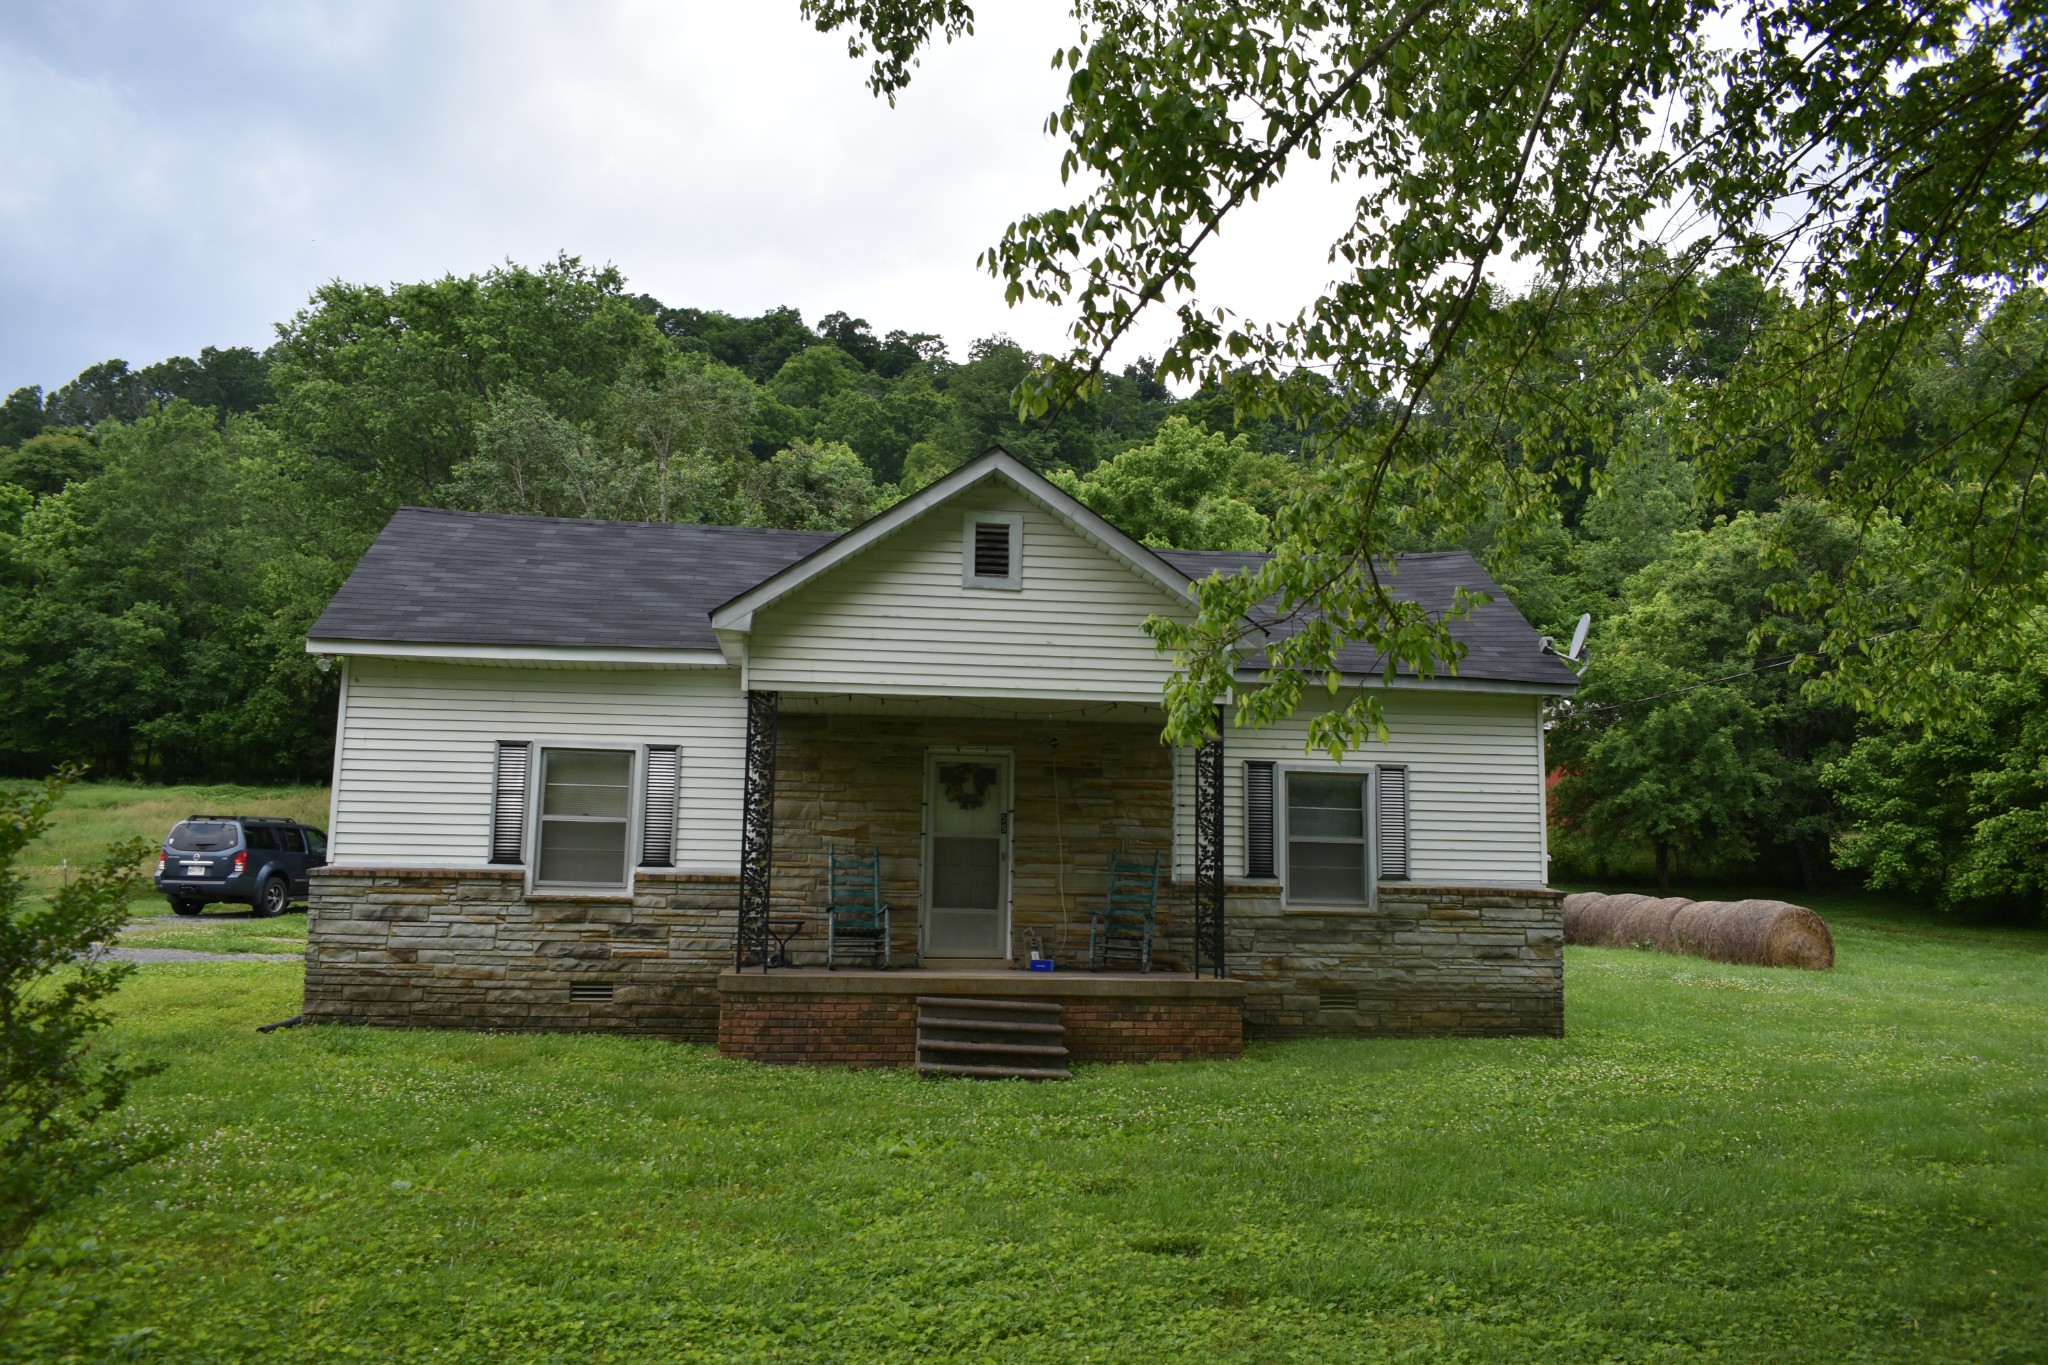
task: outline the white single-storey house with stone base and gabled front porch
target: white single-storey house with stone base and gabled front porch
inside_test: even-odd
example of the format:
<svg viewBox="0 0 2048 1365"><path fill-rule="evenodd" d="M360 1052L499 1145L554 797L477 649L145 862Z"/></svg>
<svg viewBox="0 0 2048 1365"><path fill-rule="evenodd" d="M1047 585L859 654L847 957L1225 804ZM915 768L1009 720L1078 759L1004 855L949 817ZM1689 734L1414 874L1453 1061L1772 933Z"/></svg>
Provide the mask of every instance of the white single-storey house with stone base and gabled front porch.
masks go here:
<svg viewBox="0 0 2048 1365"><path fill-rule="evenodd" d="M1126 1038L1083 1058L1556 1031L1542 704L1573 673L1468 555L1403 557L1403 598L1495 602L1454 673L1346 661L1384 745L1337 763L1296 716L1163 747L1143 622L1255 559L1151 551L999 450L842 536L408 508L307 639L344 669L309 1017L889 1062L911 995L969 982ZM834 849L879 851L915 972L813 970ZM1167 872L1143 980L1073 970L1112 851ZM1059 970L1012 970L1030 943ZM819 1023L852 999L872 1027Z"/></svg>

